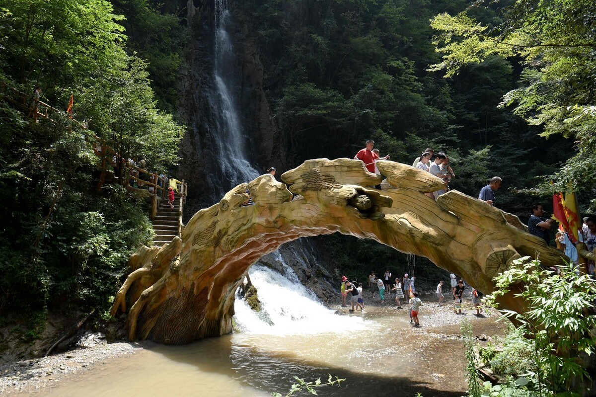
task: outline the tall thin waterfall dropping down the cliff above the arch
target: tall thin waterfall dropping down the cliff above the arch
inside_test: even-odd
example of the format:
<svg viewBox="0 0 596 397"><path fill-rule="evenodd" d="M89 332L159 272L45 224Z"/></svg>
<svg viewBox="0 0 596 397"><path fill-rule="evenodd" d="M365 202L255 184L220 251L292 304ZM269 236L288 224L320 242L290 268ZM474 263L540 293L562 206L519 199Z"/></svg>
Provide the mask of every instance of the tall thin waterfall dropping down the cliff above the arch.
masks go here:
<svg viewBox="0 0 596 397"><path fill-rule="evenodd" d="M238 89L234 82L237 81L234 66L237 63L234 55L234 46L226 30L226 21L229 17L227 0L215 0L215 62L213 67L213 80L216 92L210 98L210 103L216 115L216 128L213 131L213 148L215 150L216 184L221 185L221 194L229 187L234 187L242 182L249 182L259 176L259 172L249 161L247 153L247 137L244 135L243 126L238 107ZM222 184L225 181L225 184ZM227 187L227 188L226 188Z"/></svg>

